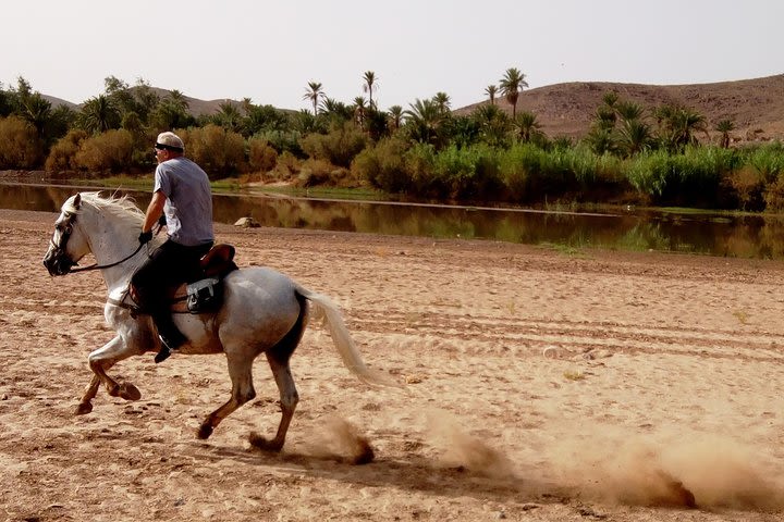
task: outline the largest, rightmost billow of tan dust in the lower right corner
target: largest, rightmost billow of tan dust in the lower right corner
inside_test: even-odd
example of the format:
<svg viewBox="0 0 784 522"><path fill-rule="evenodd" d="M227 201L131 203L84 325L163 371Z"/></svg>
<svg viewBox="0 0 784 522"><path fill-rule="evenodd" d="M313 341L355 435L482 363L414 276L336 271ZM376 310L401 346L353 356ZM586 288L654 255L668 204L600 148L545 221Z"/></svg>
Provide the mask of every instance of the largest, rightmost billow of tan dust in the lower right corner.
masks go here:
<svg viewBox="0 0 784 522"><path fill-rule="evenodd" d="M779 510L784 484L755 448L694 435L560 442L554 472L581 496L632 506Z"/></svg>

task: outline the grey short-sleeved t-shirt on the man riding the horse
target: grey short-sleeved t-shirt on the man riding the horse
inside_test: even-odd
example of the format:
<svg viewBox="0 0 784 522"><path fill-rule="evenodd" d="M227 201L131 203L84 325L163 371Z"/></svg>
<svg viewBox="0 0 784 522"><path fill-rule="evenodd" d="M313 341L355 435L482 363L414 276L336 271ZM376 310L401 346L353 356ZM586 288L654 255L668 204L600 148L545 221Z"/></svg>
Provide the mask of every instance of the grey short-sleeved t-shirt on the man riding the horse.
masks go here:
<svg viewBox="0 0 784 522"><path fill-rule="evenodd" d="M163 213L169 237L193 247L215 240L212 192L207 174L185 157L173 158L156 169L154 192L167 197Z"/></svg>

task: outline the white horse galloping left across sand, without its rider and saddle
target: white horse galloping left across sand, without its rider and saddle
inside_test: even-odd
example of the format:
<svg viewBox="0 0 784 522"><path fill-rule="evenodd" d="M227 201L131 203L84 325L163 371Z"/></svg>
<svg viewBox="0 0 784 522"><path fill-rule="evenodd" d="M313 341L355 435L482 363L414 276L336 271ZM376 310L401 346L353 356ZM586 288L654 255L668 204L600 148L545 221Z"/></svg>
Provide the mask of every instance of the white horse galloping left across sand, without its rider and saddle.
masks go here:
<svg viewBox="0 0 784 522"><path fill-rule="evenodd" d="M91 400L101 383L113 397L138 400L142 394L136 386L118 383L107 371L128 357L158 351L160 341L151 318L137 313L138 310L127 303L128 282L147 252L146 248L138 248L137 240L144 219L142 211L127 198L105 198L98 192L76 194L61 210L44 265L51 275L86 270L72 268L93 252L96 264L87 270L101 271L108 289L103 314L117 331L113 339L88 356L95 375L76 408L76 414L85 414L93 411ZM209 437L223 419L256 396L253 362L259 353L265 353L280 390L282 415L272 440L252 433L250 443L271 451L283 447L298 401L289 359L307 324L307 301L314 312L323 314L348 370L370 385L395 385L389 376L365 365L338 308L327 297L268 268L235 270L224 278L223 285L223 304L217 312L175 314L177 327L188 338L179 352L224 352L229 362L231 398L205 419L198 430L199 438Z"/></svg>

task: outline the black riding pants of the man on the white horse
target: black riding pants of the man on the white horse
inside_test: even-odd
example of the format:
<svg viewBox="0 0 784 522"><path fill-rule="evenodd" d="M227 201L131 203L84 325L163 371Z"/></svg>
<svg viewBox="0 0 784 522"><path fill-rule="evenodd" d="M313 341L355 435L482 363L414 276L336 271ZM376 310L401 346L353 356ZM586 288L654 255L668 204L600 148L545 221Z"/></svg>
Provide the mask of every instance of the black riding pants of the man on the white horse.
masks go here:
<svg viewBox="0 0 784 522"><path fill-rule="evenodd" d="M185 339L174 326L169 295L180 284L197 276L199 259L211 247L211 243L186 247L170 239L154 250L131 277L139 306L152 315L158 333L176 344Z"/></svg>

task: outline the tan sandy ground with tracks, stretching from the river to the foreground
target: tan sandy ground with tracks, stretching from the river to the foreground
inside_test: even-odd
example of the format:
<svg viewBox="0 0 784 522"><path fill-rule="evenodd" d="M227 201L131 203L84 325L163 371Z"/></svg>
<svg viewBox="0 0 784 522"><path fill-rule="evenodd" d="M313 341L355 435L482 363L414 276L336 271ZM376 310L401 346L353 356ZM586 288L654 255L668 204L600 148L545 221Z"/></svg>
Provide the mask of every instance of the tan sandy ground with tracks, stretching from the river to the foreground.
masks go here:
<svg viewBox="0 0 784 522"><path fill-rule="evenodd" d="M310 325L282 453L266 361L258 397L208 440L220 356L112 370L93 273L41 265L56 215L0 211L0 519L774 521L784 515L784 264L219 225L241 266L332 297L369 388ZM366 437L376 459L351 463ZM693 497L691 497L693 496ZM690 501L694 498L694 501ZM689 505L696 505L690 507Z"/></svg>

